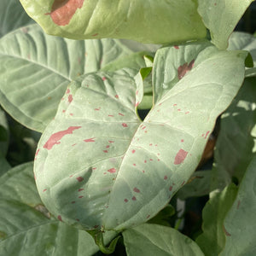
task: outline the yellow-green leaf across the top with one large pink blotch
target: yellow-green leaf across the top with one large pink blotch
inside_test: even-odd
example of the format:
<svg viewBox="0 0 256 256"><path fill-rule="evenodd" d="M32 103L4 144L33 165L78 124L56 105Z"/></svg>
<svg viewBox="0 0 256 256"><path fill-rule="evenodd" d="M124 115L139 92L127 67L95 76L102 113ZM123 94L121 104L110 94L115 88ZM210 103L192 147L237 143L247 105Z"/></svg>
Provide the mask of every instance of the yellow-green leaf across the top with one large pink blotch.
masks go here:
<svg viewBox="0 0 256 256"><path fill-rule="evenodd" d="M126 38L166 44L205 38L206 27L191 0L20 0L49 34L74 39Z"/></svg>

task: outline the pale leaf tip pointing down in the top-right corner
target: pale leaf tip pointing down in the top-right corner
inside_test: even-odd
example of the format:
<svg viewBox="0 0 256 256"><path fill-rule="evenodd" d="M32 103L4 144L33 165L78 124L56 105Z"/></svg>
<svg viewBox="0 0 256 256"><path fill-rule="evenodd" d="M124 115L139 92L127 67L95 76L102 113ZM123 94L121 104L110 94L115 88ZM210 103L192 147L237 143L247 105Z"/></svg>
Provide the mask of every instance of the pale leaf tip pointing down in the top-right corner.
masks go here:
<svg viewBox="0 0 256 256"><path fill-rule="evenodd" d="M227 49L230 34L253 0L198 1L198 12L211 32L212 44Z"/></svg>

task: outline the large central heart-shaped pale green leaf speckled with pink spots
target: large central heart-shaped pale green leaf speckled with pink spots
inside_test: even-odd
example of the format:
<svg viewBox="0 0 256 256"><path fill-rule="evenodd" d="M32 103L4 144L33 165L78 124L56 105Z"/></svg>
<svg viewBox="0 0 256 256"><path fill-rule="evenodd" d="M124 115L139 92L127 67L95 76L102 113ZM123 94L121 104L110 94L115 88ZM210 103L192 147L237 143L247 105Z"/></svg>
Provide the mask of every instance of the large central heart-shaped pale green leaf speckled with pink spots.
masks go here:
<svg viewBox="0 0 256 256"><path fill-rule="evenodd" d="M136 113L143 83L134 70L74 81L38 144L35 173L49 211L81 229L123 230L165 207L243 80L246 52L206 55L143 122Z"/></svg>

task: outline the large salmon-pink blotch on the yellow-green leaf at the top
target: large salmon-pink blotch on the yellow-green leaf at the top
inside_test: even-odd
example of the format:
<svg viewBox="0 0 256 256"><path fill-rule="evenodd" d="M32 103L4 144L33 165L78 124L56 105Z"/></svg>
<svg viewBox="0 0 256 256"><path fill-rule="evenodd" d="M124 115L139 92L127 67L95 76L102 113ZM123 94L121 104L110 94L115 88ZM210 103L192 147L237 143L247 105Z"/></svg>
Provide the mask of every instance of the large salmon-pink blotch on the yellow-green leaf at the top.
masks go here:
<svg viewBox="0 0 256 256"><path fill-rule="evenodd" d="M67 26L77 9L81 9L84 0L55 0L51 7L51 20L58 26Z"/></svg>

